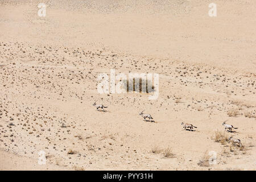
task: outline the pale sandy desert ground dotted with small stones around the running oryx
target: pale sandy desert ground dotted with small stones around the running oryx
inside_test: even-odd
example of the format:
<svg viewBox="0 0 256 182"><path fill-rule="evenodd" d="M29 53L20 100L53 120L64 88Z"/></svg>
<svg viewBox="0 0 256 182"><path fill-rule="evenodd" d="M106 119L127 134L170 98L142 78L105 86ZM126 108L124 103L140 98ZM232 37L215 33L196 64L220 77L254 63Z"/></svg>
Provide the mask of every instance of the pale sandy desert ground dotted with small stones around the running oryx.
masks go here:
<svg viewBox="0 0 256 182"><path fill-rule="evenodd" d="M0 1L1 170L256 169L255 1L38 3ZM159 98L99 94L110 69L159 73Z"/></svg>

